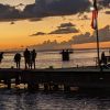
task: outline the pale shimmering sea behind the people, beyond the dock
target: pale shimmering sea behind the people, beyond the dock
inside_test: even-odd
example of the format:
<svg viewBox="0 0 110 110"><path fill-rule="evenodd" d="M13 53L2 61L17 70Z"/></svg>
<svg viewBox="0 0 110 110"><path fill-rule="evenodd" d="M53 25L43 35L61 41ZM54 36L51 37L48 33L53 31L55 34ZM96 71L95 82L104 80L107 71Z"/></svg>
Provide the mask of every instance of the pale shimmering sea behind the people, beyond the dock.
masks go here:
<svg viewBox="0 0 110 110"><path fill-rule="evenodd" d="M21 53L22 54L22 53ZM106 51L108 55L108 51ZM23 56L23 55L22 55ZM4 58L0 64L1 68L15 67L13 62L14 54L4 54ZM97 52L95 50L89 51L75 51L70 54L69 62L62 62L62 55L59 52L42 52L37 53L36 68L65 68L65 67L77 67L78 66L92 66L96 65ZM21 68L24 68L24 58L21 59Z"/></svg>

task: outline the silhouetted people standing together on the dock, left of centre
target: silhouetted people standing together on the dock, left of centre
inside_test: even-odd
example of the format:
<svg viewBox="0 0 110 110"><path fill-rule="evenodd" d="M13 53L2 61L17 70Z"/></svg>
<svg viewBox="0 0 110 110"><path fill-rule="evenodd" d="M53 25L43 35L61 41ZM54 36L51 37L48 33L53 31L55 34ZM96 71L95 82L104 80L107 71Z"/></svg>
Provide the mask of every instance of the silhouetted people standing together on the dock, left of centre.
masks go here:
<svg viewBox="0 0 110 110"><path fill-rule="evenodd" d="M35 58L36 58L36 52L35 50L29 51L28 48L23 53L24 56L24 63L25 63L25 68L33 68L35 69ZM20 68L20 62L21 62L21 54L16 53L14 55L14 62L16 64L16 68Z"/></svg>

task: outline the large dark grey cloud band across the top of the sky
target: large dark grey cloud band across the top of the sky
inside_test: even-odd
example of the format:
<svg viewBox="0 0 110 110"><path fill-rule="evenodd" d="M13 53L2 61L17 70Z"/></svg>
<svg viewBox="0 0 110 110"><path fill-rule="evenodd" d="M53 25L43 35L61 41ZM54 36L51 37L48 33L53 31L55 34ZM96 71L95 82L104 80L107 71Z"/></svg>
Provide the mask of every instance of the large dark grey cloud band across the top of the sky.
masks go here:
<svg viewBox="0 0 110 110"><path fill-rule="evenodd" d="M101 0L99 3L102 7L109 7L110 0ZM69 15L84 13L89 10L89 0L36 0L35 3L25 6L23 11L11 6L0 4L0 20L11 21L53 15ZM88 18L85 16L84 19Z"/></svg>

